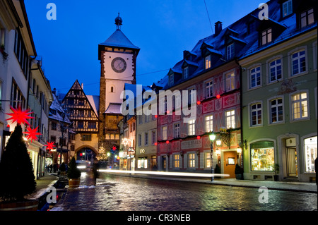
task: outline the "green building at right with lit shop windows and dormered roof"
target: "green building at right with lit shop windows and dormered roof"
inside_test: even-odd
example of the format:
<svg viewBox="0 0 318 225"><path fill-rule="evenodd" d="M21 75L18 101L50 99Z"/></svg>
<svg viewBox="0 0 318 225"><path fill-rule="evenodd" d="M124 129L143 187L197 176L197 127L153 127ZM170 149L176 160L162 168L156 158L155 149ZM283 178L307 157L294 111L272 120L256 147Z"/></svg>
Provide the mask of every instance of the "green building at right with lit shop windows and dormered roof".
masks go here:
<svg viewBox="0 0 318 225"><path fill-rule="evenodd" d="M317 158L317 1L269 1L242 66L245 178L312 181ZM257 11L253 12L257 16Z"/></svg>

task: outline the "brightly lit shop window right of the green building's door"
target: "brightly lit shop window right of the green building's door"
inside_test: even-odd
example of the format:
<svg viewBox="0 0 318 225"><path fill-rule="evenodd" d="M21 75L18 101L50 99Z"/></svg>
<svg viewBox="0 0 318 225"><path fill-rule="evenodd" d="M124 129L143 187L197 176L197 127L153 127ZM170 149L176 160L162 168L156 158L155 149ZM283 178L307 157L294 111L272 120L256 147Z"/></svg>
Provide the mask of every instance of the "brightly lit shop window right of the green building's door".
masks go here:
<svg viewBox="0 0 318 225"><path fill-rule="evenodd" d="M315 172L314 159L317 159L317 136L305 139L305 161L307 173Z"/></svg>

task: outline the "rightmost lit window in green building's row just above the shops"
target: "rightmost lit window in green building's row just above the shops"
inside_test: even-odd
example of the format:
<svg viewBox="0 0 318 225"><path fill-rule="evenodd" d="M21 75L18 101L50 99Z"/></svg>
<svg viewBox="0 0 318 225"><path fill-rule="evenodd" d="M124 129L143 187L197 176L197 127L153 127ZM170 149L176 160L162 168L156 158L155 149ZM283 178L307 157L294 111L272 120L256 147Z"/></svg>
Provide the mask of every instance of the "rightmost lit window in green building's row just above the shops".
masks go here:
<svg viewBox="0 0 318 225"><path fill-rule="evenodd" d="M307 93L302 92L292 96L293 119L308 117Z"/></svg>

